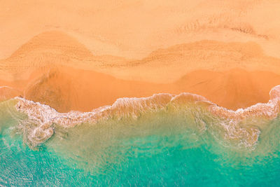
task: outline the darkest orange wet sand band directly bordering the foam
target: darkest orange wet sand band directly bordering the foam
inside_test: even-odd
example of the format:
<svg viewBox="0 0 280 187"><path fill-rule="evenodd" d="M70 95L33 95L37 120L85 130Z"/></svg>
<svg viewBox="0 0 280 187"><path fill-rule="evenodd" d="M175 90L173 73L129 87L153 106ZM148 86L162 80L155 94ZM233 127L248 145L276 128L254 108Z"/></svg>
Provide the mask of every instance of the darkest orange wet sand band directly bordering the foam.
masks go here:
<svg viewBox="0 0 280 187"><path fill-rule="evenodd" d="M123 97L149 97L156 93L179 95L181 92L190 92L235 111L268 102L269 91L280 84L280 75L244 69L223 72L197 70L174 83L156 84L127 81L95 71L61 67L50 69L48 74L34 76L29 80L22 81L20 85L25 85L22 88L15 87L17 85L13 82L6 85L9 88L0 88L0 99L21 96L47 104L59 112L86 112L111 105L116 99Z"/></svg>

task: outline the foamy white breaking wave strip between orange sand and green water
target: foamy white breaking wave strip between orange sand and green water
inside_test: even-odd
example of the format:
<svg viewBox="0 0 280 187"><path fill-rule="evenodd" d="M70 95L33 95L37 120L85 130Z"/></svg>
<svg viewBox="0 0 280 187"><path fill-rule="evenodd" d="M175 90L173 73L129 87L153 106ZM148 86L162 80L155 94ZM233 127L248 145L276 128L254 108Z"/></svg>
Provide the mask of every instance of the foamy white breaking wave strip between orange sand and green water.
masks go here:
<svg viewBox="0 0 280 187"><path fill-rule="evenodd" d="M72 128L82 123L92 125L104 120L137 120L143 115L163 112L180 113L201 131L211 130L225 141L239 147L254 148L260 130L279 114L280 85L272 88L269 102L232 111L209 102L205 97L190 93L155 94L143 98L120 98L111 106L102 106L90 112L59 113L45 104L15 97L15 109L27 117L18 118L27 144L36 147L55 134L56 127ZM152 115L153 118L153 115Z"/></svg>

